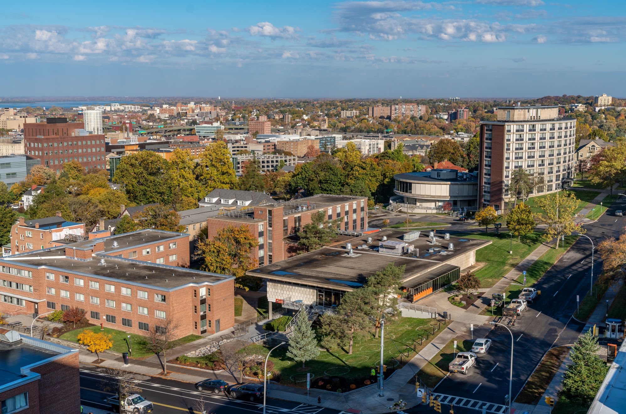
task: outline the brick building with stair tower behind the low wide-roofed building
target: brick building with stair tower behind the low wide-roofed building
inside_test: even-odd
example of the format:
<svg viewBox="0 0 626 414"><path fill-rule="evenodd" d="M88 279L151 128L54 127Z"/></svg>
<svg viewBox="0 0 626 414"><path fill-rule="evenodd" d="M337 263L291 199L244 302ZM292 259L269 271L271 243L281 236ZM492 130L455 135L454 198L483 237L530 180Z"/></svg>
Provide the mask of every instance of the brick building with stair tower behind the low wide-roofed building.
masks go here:
<svg viewBox="0 0 626 414"><path fill-rule="evenodd" d="M367 197L317 194L295 201L251 202L245 207L209 218L208 237L227 226L248 226L259 240L250 253L259 266L295 255L297 243L289 236L302 230L319 211L324 211L328 220L339 221L337 230L362 233L367 228Z"/></svg>

